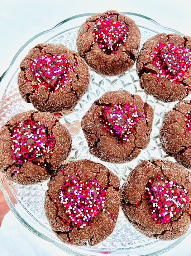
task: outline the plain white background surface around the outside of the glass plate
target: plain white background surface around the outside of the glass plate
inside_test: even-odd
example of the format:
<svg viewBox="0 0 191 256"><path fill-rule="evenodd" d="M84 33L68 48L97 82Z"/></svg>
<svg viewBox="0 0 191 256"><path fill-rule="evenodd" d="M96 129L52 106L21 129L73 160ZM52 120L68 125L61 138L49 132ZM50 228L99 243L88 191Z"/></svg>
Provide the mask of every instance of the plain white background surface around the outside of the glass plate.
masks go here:
<svg viewBox="0 0 191 256"><path fill-rule="evenodd" d="M54 27L73 15L104 12L139 13L165 27L191 36L190 0L121 0L121 1L65 1L65 0L1 0L0 1L0 75L9 67L19 48L31 37ZM0 256L66 256L49 242L29 232L9 212L0 228ZM190 256L191 235L163 256Z"/></svg>

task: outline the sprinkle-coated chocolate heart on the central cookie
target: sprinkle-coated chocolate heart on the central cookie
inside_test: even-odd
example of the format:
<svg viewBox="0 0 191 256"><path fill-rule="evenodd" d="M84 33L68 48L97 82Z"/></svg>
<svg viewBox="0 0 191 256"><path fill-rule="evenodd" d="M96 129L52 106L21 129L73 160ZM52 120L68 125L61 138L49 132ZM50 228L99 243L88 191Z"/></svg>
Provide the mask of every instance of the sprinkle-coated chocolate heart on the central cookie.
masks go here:
<svg viewBox="0 0 191 256"><path fill-rule="evenodd" d="M129 134L134 131L138 119L147 116L143 113L139 116L138 109L132 104L124 105L111 104L108 107L102 106L99 113L100 122L103 122L104 129L109 131L119 143L128 141Z"/></svg>

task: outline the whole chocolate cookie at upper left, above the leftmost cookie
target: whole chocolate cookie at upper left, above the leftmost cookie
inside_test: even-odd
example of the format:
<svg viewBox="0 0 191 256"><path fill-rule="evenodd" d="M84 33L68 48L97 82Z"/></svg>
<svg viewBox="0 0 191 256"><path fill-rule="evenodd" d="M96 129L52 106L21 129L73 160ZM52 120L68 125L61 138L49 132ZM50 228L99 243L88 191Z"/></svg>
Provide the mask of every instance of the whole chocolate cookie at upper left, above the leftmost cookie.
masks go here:
<svg viewBox="0 0 191 256"><path fill-rule="evenodd" d="M20 64L22 98L39 111L73 109L89 86L86 62L61 44L38 44Z"/></svg>

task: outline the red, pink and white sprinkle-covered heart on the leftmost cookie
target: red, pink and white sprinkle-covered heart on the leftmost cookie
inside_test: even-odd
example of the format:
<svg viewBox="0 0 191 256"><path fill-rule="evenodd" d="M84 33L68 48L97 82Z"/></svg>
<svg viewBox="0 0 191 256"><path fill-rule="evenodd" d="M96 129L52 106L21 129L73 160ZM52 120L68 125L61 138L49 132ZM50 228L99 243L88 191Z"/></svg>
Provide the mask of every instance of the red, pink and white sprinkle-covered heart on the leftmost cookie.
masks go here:
<svg viewBox="0 0 191 256"><path fill-rule="evenodd" d="M52 155L52 148L55 139L53 135L48 136L44 125L35 123L29 118L25 122L20 122L13 128L11 135L11 152L15 165L32 161L44 154ZM51 149L52 148L52 149ZM40 165L38 163L38 165ZM20 170L18 169L17 173Z"/></svg>

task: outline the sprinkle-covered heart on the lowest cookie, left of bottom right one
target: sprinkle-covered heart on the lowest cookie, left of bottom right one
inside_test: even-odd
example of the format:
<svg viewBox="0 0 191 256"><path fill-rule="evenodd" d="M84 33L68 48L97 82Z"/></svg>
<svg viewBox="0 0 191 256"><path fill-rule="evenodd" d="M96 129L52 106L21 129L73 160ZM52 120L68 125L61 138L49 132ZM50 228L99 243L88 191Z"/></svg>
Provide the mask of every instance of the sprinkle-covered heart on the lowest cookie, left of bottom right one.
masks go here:
<svg viewBox="0 0 191 256"><path fill-rule="evenodd" d="M65 181L66 184L63 185L57 200L61 198L61 204L65 207L70 221L76 223L77 228L92 225L93 217L97 216L101 210L105 211L106 189L101 188L96 180L82 183L77 179L70 181L65 178Z"/></svg>

